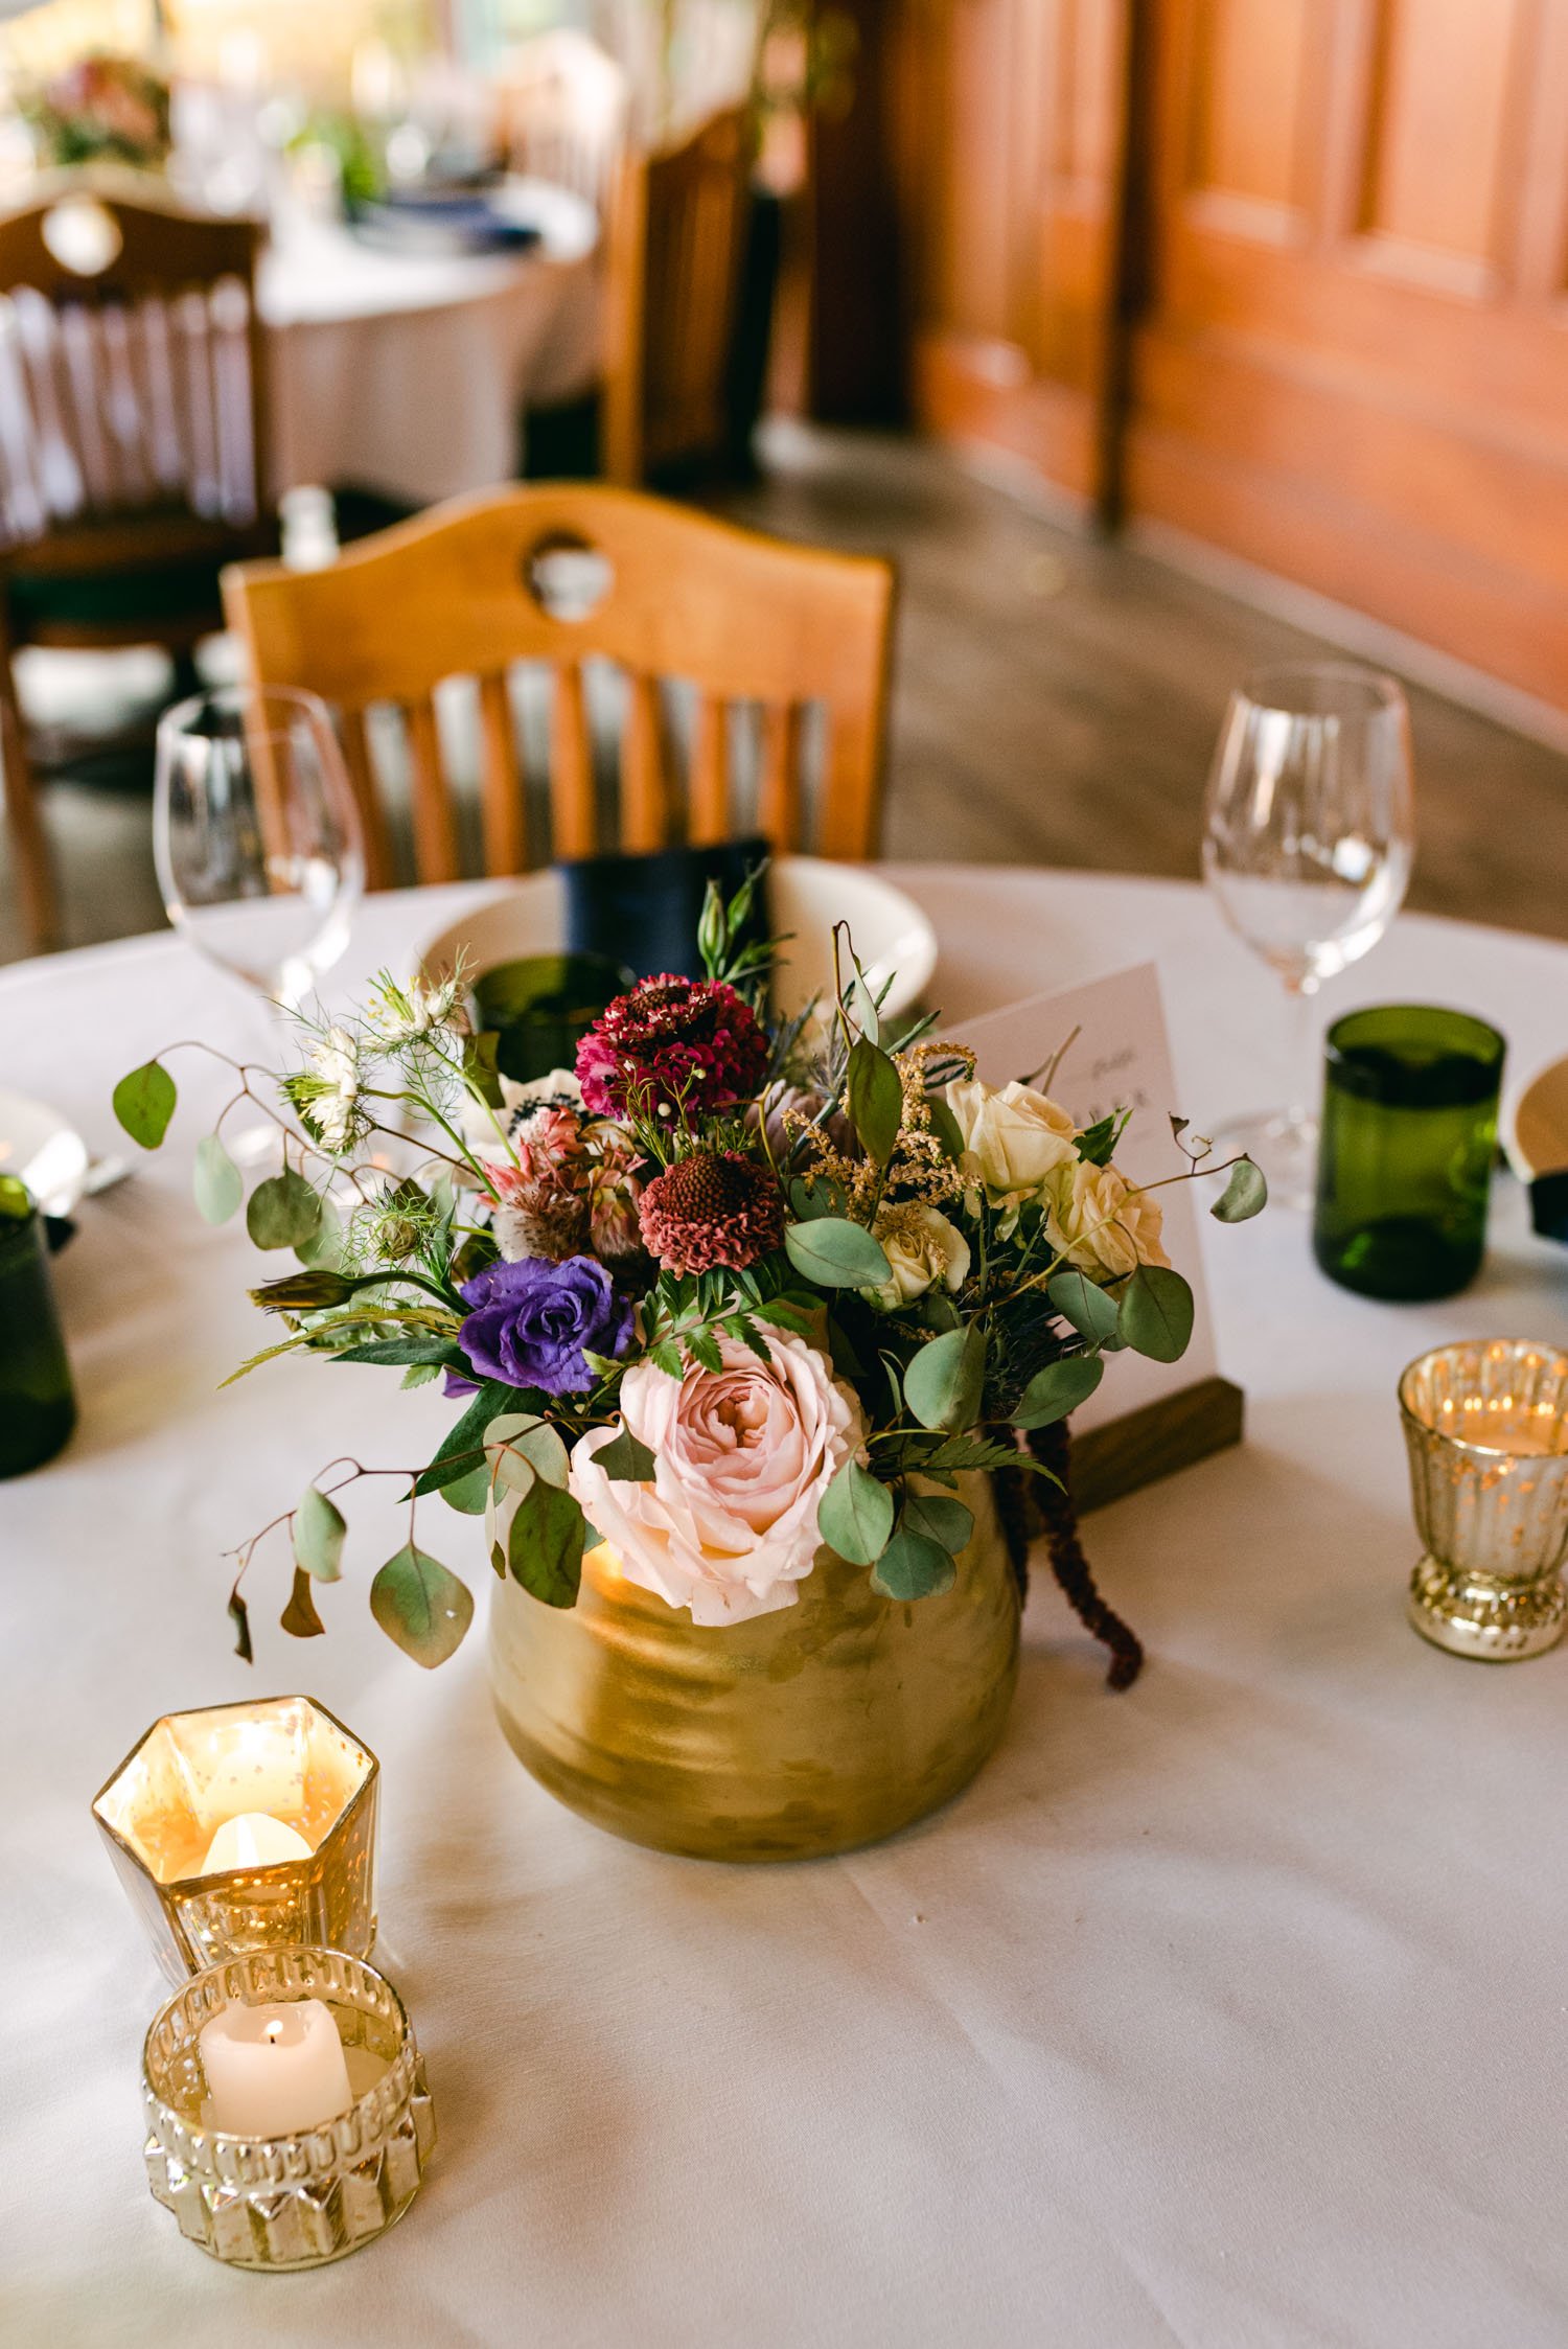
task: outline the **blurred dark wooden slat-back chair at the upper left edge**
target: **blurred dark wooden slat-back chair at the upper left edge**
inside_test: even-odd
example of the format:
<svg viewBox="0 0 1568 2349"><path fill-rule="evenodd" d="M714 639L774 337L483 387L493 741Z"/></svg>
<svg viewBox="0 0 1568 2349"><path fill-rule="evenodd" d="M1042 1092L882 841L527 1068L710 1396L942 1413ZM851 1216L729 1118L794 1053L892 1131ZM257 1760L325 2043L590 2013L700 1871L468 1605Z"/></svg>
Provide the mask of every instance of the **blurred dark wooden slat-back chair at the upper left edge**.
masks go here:
<svg viewBox="0 0 1568 2349"><path fill-rule="evenodd" d="M0 218L0 747L23 921L56 893L12 653L160 644L223 625L218 571L263 517L261 228L61 179Z"/></svg>

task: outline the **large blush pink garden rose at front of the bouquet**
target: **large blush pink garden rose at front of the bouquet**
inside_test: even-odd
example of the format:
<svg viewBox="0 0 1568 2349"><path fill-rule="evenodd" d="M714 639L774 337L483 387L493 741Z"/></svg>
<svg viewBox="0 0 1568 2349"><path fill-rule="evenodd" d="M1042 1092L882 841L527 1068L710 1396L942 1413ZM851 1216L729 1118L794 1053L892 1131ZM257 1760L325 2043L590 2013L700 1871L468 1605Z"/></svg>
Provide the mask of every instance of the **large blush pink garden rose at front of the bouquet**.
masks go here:
<svg viewBox="0 0 1568 2349"><path fill-rule="evenodd" d="M796 1604L822 1543L817 1503L866 1435L826 1355L782 1330L765 1337L770 1362L721 1339L723 1369L627 1372L620 1409L655 1456L650 1485L599 1466L615 1428L592 1428L573 1452L570 1489L624 1576L690 1607L692 1623L744 1623Z"/></svg>

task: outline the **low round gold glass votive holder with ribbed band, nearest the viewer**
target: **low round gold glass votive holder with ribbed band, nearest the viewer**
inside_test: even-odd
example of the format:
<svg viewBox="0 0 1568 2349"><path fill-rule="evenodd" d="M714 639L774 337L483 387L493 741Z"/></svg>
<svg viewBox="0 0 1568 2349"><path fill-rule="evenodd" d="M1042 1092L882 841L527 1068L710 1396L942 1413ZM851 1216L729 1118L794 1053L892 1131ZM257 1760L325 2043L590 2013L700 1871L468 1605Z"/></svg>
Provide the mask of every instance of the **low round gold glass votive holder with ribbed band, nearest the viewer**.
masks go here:
<svg viewBox="0 0 1568 2349"><path fill-rule="evenodd" d="M338 2025L354 2102L289 2138L207 2121L202 2025L225 2006L319 1999ZM343 1950L251 1950L188 1980L143 2051L148 2185L181 2234L225 2267L343 2260L392 2227L437 2138L425 2062L392 1983Z"/></svg>

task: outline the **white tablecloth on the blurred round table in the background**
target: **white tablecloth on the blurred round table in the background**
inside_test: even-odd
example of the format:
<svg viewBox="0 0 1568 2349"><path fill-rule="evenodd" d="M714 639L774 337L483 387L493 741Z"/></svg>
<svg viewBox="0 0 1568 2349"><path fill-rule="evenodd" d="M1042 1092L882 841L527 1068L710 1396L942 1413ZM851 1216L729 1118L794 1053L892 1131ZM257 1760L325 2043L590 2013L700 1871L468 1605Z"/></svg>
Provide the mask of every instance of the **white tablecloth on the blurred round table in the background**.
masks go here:
<svg viewBox="0 0 1568 2349"><path fill-rule="evenodd" d="M272 486L347 482L427 505L516 472L519 411L599 378L596 223L526 181L523 254L385 254L286 218L256 301L272 350Z"/></svg>

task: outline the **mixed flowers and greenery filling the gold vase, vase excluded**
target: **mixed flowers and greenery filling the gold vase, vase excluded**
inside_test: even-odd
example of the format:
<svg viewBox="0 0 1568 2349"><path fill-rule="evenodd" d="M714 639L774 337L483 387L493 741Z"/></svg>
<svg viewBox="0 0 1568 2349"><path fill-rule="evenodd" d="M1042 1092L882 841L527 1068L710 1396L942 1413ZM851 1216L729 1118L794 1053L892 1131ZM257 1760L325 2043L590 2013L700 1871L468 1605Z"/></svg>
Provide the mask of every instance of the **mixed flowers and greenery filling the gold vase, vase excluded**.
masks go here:
<svg viewBox="0 0 1568 2349"><path fill-rule="evenodd" d="M885 1597L922 1600L953 1586L972 1534L960 1473L1040 1473L1030 1433L1091 1395L1108 1355L1183 1353L1192 1292L1164 1254L1160 1186L1115 1165L1124 1113L1080 1128L1054 1071L993 1088L930 1019L890 1034L847 935L836 1001L770 1019L775 949L739 947L753 886L709 895L707 975L610 1003L575 1071L500 1081L460 975L383 975L361 1015L303 1024L284 1076L230 1064L197 1207L244 1205L258 1247L300 1259L251 1292L284 1334L244 1369L305 1351L444 1379L462 1402L427 1463L333 1461L239 1546L239 1583L275 1532L293 1553L282 1626L322 1630L338 1494L364 1475L406 1487L408 1541L371 1609L425 1665L474 1611L415 1539L430 1494L484 1515L495 1574L549 1607L575 1602L599 1541L695 1623L791 1607L824 1543ZM268 1106L282 1146L249 1200L223 1146L242 1102ZM160 1059L115 1088L148 1149L174 1109ZM1169 1179L1211 1172L1209 1144L1171 1128ZM1263 1200L1239 1158L1214 1214Z"/></svg>

